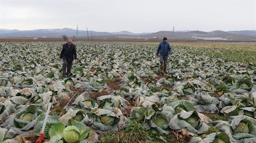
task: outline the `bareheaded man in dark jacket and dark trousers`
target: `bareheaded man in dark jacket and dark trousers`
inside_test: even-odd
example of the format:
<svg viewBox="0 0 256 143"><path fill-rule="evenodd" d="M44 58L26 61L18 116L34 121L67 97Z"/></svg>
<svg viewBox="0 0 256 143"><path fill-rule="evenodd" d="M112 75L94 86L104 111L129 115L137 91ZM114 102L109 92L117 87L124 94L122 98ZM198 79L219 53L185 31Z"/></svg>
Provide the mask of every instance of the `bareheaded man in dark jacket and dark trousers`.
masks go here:
<svg viewBox="0 0 256 143"><path fill-rule="evenodd" d="M75 58L75 63L77 62L76 57L76 45L72 44L72 40L69 38L67 43L63 45L62 51L60 53L60 59L63 59L63 73L62 76L70 76L72 62Z"/></svg>

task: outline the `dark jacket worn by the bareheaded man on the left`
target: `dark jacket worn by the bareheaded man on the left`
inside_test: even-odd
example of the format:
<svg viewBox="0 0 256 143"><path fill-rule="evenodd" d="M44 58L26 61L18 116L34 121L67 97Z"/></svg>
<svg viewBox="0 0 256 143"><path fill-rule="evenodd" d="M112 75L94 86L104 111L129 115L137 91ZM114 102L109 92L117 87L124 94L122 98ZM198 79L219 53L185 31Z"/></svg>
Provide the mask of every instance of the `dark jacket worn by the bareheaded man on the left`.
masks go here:
<svg viewBox="0 0 256 143"><path fill-rule="evenodd" d="M71 43L70 48L68 49L68 43L63 44L61 53L60 53L60 59L68 59L68 62L72 62L73 60L77 60L76 57L76 45Z"/></svg>

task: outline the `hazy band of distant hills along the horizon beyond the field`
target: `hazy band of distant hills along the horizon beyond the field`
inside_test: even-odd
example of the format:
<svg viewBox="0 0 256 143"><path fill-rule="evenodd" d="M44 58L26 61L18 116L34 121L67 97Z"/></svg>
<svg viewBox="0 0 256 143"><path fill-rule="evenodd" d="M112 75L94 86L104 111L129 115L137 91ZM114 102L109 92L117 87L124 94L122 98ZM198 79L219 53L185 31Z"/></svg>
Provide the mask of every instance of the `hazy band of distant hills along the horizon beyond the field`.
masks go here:
<svg viewBox="0 0 256 143"><path fill-rule="evenodd" d="M37 29L37 30L26 30L20 31L17 29L14 30L6 30L0 29L0 37L62 37L62 35L66 35L67 37L76 37L76 30L70 28L63 29ZM120 32L97 32L97 31L85 31L78 30L78 37L98 37L104 39L153 39L153 37L158 37L159 40L163 37L167 37L168 39L185 39L192 40L198 39L198 37L204 39L225 39L225 40L236 40L236 41L256 41L256 31L244 30L244 31L158 31L156 33L132 33L129 31L120 31Z"/></svg>

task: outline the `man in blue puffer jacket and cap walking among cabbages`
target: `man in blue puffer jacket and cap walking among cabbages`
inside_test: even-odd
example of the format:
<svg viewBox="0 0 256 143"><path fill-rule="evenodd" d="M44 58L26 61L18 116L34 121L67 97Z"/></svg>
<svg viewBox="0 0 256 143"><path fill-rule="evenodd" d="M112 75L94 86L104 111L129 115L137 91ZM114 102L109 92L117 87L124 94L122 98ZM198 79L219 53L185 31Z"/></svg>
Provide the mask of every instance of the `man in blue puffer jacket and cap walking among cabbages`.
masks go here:
<svg viewBox="0 0 256 143"><path fill-rule="evenodd" d="M160 52L160 67L163 68L163 62L164 62L164 76L166 76L166 63L168 60L168 57L171 56L172 48L171 45L167 42L167 38L164 37L163 41L159 43L157 51L156 51L156 58L158 58L158 54Z"/></svg>

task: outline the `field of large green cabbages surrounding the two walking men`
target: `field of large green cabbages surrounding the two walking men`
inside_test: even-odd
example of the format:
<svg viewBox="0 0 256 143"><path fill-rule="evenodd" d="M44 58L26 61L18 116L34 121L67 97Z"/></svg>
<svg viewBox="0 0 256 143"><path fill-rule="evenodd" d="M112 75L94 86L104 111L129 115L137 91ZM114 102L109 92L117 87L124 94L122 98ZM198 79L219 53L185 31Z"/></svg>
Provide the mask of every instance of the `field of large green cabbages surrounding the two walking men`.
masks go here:
<svg viewBox="0 0 256 143"><path fill-rule="evenodd" d="M0 143L35 142L52 96L44 143L256 142L255 42L170 42L166 76L158 43L73 43L68 78L64 42L0 43Z"/></svg>

